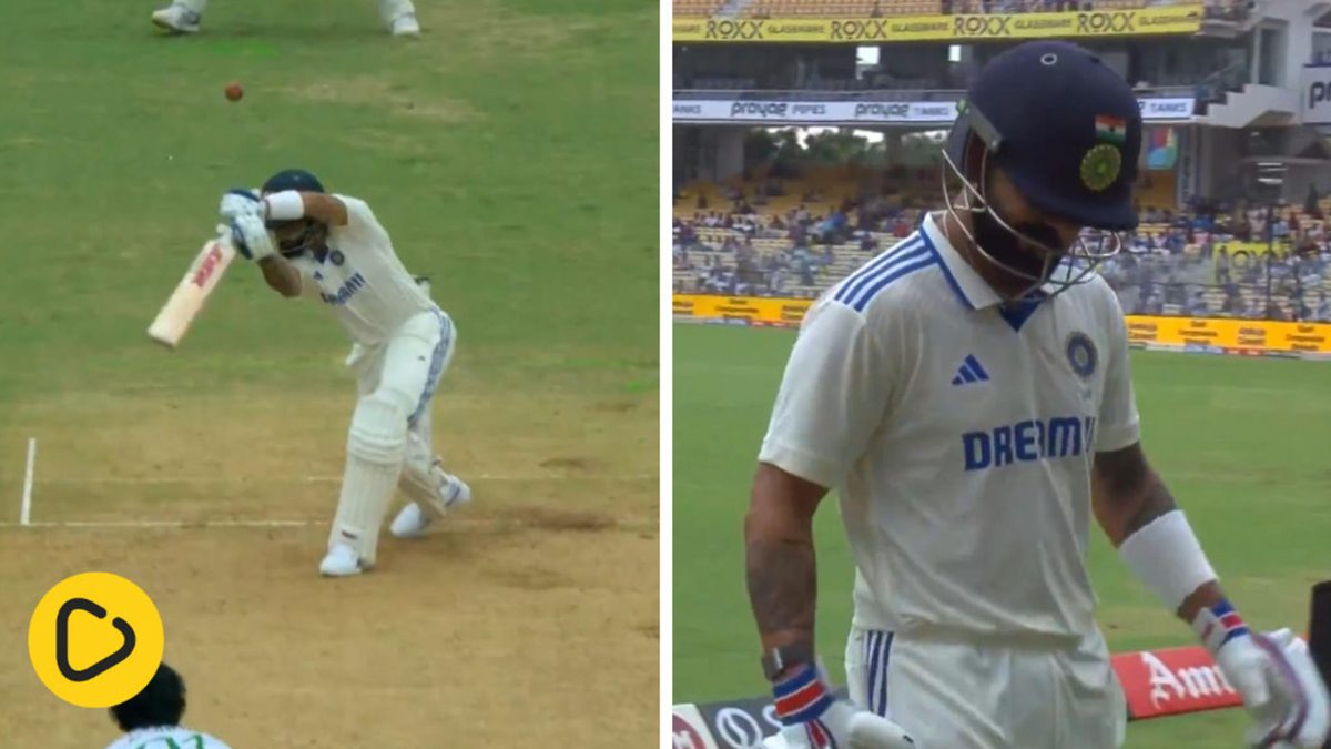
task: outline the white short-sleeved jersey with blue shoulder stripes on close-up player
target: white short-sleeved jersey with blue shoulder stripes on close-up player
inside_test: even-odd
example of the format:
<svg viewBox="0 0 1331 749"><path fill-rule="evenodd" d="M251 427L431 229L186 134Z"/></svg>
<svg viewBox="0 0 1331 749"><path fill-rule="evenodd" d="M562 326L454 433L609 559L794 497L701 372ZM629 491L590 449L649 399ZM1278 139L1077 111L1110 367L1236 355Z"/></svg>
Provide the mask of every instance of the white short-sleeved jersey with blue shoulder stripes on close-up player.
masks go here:
<svg viewBox="0 0 1331 749"><path fill-rule="evenodd" d="M1094 452L1137 441L1105 280L1001 309L929 216L809 311L760 460L837 490L856 625L1077 638Z"/></svg>

